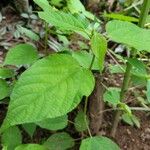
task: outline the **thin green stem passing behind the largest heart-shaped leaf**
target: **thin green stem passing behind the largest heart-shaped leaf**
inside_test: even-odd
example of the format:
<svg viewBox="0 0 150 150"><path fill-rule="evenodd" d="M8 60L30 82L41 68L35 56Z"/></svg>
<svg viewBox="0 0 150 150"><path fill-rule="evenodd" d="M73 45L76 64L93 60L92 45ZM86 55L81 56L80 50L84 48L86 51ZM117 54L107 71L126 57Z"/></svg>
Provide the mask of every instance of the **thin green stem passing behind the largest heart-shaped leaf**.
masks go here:
<svg viewBox="0 0 150 150"><path fill-rule="evenodd" d="M89 70L92 69L94 60L95 60L95 55L93 55L91 64L89 66ZM84 116L85 117L84 117L84 120L85 120L85 124L86 124L87 130L88 130L89 136L92 137L92 134L91 134L91 131L90 131L90 128L89 128L89 125L88 125L88 121L87 121L87 115L86 115L86 113L87 113L87 107L88 107L88 96L86 96L86 98L85 98L85 104L84 104Z"/></svg>

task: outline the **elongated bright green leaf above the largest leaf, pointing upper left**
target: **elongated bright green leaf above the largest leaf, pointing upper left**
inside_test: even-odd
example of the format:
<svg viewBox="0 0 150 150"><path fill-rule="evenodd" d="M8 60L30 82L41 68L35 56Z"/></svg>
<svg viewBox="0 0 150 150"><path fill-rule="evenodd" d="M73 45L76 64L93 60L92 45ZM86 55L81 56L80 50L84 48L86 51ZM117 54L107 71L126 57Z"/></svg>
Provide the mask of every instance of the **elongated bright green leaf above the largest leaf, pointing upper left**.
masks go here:
<svg viewBox="0 0 150 150"><path fill-rule="evenodd" d="M84 32L87 28L86 23L74 17L72 14L52 9L51 11L39 12L38 14L41 19L61 30Z"/></svg>

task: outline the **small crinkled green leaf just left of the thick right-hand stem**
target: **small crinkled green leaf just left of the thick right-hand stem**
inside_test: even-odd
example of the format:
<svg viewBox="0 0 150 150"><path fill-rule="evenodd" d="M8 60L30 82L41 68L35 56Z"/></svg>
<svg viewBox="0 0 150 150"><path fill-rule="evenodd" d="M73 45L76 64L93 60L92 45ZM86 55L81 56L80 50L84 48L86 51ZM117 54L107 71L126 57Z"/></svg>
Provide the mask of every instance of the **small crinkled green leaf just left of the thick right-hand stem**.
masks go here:
<svg viewBox="0 0 150 150"><path fill-rule="evenodd" d="M104 93L104 101L114 106L120 103L120 89L119 88L108 88Z"/></svg>

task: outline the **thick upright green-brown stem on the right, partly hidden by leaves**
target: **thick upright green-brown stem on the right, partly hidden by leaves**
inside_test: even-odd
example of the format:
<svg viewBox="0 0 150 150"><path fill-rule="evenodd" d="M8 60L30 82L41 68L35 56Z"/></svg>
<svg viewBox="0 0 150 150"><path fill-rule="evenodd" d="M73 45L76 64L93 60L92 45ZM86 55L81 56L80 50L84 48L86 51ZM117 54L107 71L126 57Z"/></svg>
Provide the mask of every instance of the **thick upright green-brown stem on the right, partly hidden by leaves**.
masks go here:
<svg viewBox="0 0 150 150"><path fill-rule="evenodd" d="M139 19L139 24L138 24L139 27L142 27L142 28L144 27L145 22L146 22L146 18L148 16L149 9L150 9L150 0L144 0L143 5L142 5L142 11L141 11L140 19ZM134 50L133 55L134 56L136 55L135 50ZM124 100L126 91L128 90L131 70L132 70L132 65L129 62L127 62L126 72L125 72L125 75L124 75L124 80L123 80L121 93L120 93L120 102L122 102ZM111 136L112 137L115 137L121 113L122 112L119 111L119 110L116 112L113 127L112 127L112 130L111 130Z"/></svg>

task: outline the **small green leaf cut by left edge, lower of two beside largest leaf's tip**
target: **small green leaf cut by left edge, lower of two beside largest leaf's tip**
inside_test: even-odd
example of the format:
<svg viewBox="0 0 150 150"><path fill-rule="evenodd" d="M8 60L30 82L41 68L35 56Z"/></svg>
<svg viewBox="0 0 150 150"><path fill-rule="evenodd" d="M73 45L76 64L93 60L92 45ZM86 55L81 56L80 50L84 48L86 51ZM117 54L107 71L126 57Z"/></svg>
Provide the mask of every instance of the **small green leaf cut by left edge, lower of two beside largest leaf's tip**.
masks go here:
<svg viewBox="0 0 150 150"><path fill-rule="evenodd" d="M0 100L7 96L9 96L9 86L5 80L0 79Z"/></svg>

